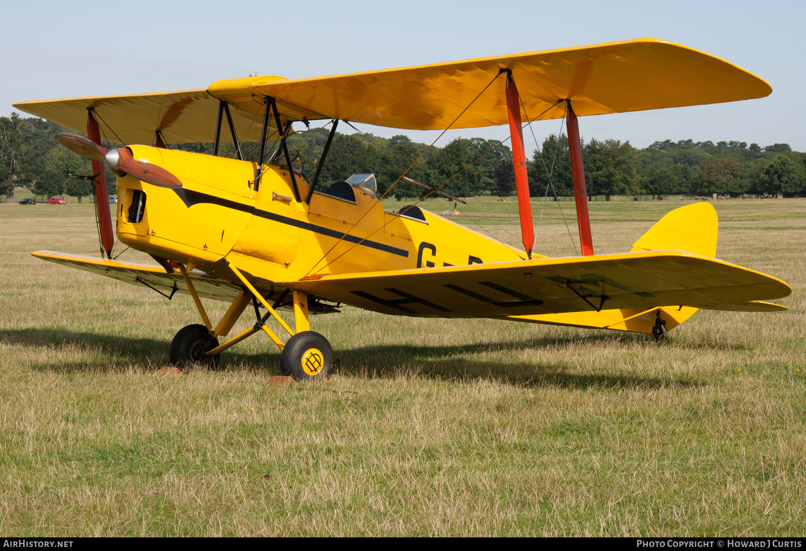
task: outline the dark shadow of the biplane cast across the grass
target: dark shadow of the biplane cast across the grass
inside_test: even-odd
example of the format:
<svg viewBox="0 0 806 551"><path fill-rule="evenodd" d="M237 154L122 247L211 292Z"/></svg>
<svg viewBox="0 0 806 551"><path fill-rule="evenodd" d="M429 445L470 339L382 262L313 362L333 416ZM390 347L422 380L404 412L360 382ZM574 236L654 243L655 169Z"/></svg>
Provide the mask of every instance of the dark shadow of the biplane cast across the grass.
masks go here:
<svg viewBox="0 0 806 551"><path fill-rule="evenodd" d="M694 379L646 377L613 371L611 373L579 373L579 367L558 362L501 362L468 358L468 354L551 348L558 351L580 345L579 354L590 354L590 345L616 340L606 334L584 338L531 338L513 342L479 343L455 346L378 345L358 346L337 351L336 374L358 375L375 379L423 378L469 381L486 379L522 387L652 389L662 387L699 387ZM642 335L618 338L625 344L639 342L655 346ZM64 354L64 361L35 363L39 371L78 373L87 371L125 371L130 367L163 367L168 363L169 342L152 338L130 338L64 329L0 329L0 342L7 345L52 348ZM714 345L715 347L717 345ZM76 350L78 354L71 352ZM73 358L70 358L73 356ZM76 358L77 356L77 358ZM89 358L88 358L89 356ZM222 357L222 368L253 369L280 373L279 353L231 354Z"/></svg>

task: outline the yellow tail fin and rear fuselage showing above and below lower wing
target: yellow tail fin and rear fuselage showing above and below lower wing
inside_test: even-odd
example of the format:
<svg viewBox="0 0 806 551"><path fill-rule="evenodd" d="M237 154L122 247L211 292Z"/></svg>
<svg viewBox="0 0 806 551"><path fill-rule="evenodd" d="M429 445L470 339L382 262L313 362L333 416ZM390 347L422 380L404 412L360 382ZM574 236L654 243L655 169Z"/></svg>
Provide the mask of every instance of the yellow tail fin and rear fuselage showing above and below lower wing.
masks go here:
<svg viewBox="0 0 806 551"><path fill-rule="evenodd" d="M646 234L634 242L631 252L657 251L659 249L682 249L695 255L717 256L717 211L710 203L692 203L655 222ZM513 321L542 323L547 325L571 325L600 329L617 329L635 333L652 334L657 308L612 309L600 312L571 312L562 314L539 314L536 316L509 316ZM663 306L660 315L667 330L688 320L697 311L691 306Z"/></svg>

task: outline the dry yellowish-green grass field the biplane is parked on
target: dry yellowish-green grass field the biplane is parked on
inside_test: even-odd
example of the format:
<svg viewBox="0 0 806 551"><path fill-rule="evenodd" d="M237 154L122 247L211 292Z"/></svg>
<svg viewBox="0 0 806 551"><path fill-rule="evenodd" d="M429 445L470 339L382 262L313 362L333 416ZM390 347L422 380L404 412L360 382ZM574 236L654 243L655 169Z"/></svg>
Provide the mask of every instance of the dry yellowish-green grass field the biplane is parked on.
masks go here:
<svg viewBox="0 0 806 551"><path fill-rule="evenodd" d="M592 203L596 252L683 204ZM559 206L552 256L574 254ZM269 387L265 338L220 372L156 375L192 300L29 255L97 255L92 205L0 205L0 533L803 535L806 200L714 206L718 256L786 280L789 311L700 311L659 346L347 308L312 320L335 375ZM463 211L519 241L514 201Z"/></svg>

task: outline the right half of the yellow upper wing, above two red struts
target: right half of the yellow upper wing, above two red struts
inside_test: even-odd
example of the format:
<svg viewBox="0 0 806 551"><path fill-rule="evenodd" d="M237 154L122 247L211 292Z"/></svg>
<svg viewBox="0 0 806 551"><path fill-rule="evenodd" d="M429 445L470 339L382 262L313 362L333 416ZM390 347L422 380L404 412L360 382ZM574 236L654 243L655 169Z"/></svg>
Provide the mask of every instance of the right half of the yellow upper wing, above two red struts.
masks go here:
<svg viewBox="0 0 806 551"><path fill-rule="evenodd" d="M654 38L276 81L254 91L327 117L438 130L447 128L502 68L512 70L527 120L560 99L570 99L582 116L735 102L772 91L767 82L725 60ZM506 124L504 85L499 78L453 127ZM217 85L210 93L219 95ZM561 118L563 109L560 105L542 118Z"/></svg>

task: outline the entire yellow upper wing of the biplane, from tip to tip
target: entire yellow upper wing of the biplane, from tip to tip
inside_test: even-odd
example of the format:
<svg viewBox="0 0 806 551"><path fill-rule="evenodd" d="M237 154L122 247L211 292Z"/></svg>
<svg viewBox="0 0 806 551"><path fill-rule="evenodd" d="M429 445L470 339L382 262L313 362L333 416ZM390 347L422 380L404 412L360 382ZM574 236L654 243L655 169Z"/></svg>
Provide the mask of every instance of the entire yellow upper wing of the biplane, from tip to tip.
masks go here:
<svg viewBox="0 0 806 551"><path fill-rule="evenodd" d="M247 77L217 81L206 90L19 102L15 107L74 130L85 128L86 108L95 107L126 143L151 143L156 130L169 142L210 142L218 99L235 107L239 139L258 139L265 95L276 97L284 122L339 118L435 130L447 128L504 68L517 82L526 119L547 109L542 118L562 117L562 104L550 109L561 99L570 99L581 116L735 102L772 91L761 78L718 57L646 38L334 77ZM493 83L453 127L505 124L504 84L504 78ZM222 132L223 139L228 135Z"/></svg>

